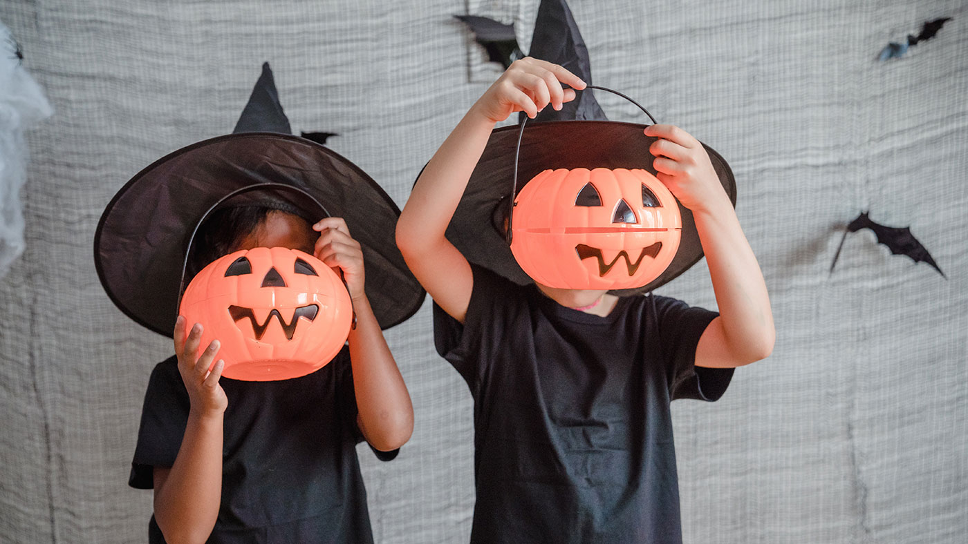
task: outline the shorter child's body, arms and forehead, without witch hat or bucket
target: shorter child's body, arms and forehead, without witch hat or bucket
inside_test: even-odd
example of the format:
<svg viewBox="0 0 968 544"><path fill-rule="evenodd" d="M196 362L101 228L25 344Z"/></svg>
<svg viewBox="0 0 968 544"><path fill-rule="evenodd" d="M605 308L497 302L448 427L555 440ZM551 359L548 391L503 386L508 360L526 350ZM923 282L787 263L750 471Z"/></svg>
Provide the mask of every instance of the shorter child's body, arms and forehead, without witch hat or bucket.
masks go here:
<svg viewBox="0 0 968 544"><path fill-rule="evenodd" d="M203 542L210 533L209 541L221 542L220 534L239 538L241 527L254 525L274 527L250 530L253 542L259 541L257 534L270 541L280 535L287 542L369 541L354 445L362 437L376 450L392 452L381 458L392 459L413 430L413 411L363 291L360 245L339 217L314 224L319 231L314 240L309 223L298 215L271 208L245 211L261 217L227 252L257 246L300 249L343 272L356 312L348 348L308 376L220 385L222 361L208 372L218 340L196 358L201 326L189 331L179 316L176 357L155 368L145 396L133 479L152 472L154 519L168 542ZM230 222L210 228L229 236L238 232ZM170 429L176 425L184 428L180 448L172 444L179 438ZM144 444L169 430L166 448ZM151 466L165 449L177 450L173 464ZM307 516L311 519L302 519Z"/></svg>

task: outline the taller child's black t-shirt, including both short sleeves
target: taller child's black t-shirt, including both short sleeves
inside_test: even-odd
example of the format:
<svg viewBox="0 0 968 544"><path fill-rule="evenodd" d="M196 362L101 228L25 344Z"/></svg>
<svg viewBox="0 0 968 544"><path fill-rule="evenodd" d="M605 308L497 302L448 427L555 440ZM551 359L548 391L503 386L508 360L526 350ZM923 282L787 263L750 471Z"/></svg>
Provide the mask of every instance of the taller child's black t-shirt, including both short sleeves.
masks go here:
<svg viewBox="0 0 968 544"><path fill-rule="evenodd" d="M628 297L599 317L471 268L465 324L434 307L474 398L471 542L680 543L669 403L728 387L693 364L716 314Z"/></svg>

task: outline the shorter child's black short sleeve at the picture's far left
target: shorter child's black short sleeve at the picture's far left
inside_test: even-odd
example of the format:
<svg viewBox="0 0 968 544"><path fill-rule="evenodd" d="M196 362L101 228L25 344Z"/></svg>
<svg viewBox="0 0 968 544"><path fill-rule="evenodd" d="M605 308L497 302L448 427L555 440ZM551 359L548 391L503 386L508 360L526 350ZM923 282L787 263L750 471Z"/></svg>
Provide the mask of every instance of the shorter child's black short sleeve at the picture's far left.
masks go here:
<svg viewBox="0 0 968 544"><path fill-rule="evenodd" d="M185 436L191 403L178 372L176 358L160 362L151 372L144 393L141 423L137 431L135 458L128 485L136 489L154 487L154 467L174 465Z"/></svg>

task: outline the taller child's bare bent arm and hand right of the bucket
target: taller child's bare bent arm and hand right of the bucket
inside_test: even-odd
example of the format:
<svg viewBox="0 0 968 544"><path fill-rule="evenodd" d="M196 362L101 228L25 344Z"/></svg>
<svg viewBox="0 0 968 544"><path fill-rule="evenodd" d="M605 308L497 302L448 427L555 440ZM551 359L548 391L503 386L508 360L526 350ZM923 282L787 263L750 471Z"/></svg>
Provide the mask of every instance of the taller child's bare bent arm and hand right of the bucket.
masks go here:
<svg viewBox="0 0 968 544"><path fill-rule="evenodd" d="M690 211L710 267L719 317L696 346L696 365L730 368L767 358L776 336L767 285L740 220L696 138L672 125L653 125L660 182Z"/></svg>

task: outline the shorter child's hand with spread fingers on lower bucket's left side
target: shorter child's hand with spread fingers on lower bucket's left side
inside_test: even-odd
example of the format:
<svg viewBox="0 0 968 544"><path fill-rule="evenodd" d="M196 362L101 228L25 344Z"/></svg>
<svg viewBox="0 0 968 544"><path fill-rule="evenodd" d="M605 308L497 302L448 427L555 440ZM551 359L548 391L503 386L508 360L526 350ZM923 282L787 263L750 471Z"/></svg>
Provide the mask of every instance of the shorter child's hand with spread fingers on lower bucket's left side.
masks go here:
<svg viewBox="0 0 968 544"><path fill-rule="evenodd" d="M178 316L174 331L175 356L178 358L178 371L182 375L182 382L185 383L192 402L191 411L202 416L222 415L228 406L226 391L219 385L225 361L219 359L209 372L208 367L219 352L219 341L212 340L201 357L196 359L200 339L201 324L195 324L186 339L185 318Z"/></svg>

